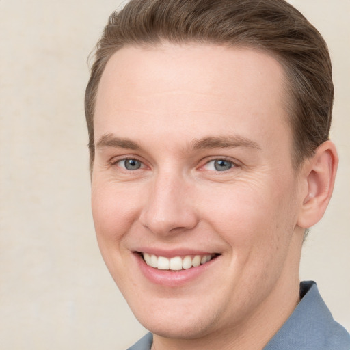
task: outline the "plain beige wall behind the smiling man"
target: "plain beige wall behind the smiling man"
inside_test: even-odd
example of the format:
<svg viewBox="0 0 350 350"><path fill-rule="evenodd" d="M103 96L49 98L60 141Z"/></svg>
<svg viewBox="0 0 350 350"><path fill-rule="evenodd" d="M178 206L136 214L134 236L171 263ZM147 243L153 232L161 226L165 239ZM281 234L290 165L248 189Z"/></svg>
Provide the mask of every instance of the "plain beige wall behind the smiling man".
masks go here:
<svg viewBox="0 0 350 350"><path fill-rule="evenodd" d="M350 1L291 1L329 43L340 169L301 278L350 329ZM144 329L111 280L90 215L86 59L120 1L0 0L0 348L126 349Z"/></svg>

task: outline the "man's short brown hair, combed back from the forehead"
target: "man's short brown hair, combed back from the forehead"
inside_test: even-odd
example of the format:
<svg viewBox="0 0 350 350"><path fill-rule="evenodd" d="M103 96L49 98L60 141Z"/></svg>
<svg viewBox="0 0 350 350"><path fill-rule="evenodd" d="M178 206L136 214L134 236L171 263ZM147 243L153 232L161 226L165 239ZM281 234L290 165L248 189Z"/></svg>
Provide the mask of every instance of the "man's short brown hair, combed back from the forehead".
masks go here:
<svg viewBox="0 0 350 350"><path fill-rule="evenodd" d="M334 87L327 44L284 0L131 0L113 12L96 45L85 92L90 168L94 162L94 107L109 58L126 45L161 42L247 46L267 51L286 72L293 162L311 157L329 136Z"/></svg>

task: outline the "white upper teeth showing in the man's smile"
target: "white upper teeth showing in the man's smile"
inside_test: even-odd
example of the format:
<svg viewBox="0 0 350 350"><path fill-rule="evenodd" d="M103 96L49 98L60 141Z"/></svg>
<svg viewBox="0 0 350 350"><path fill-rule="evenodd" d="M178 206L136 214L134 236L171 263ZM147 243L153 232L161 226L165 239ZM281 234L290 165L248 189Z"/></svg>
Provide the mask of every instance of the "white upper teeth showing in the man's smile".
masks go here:
<svg viewBox="0 0 350 350"><path fill-rule="evenodd" d="M213 255L195 255L174 256L174 258L165 258L164 256L156 256L154 254L142 253L144 260L148 266L154 267L159 270L181 270L189 269L191 267L198 267L205 264L213 258Z"/></svg>

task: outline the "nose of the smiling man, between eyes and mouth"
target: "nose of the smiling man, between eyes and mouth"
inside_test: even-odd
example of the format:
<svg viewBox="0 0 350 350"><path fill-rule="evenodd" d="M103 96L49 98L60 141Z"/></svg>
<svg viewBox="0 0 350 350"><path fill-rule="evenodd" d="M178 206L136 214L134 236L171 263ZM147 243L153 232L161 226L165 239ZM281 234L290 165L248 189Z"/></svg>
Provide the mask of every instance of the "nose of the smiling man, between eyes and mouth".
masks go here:
<svg viewBox="0 0 350 350"><path fill-rule="evenodd" d="M163 236L194 228L198 215L191 192L191 186L178 174L158 174L140 213L142 225Z"/></svg>

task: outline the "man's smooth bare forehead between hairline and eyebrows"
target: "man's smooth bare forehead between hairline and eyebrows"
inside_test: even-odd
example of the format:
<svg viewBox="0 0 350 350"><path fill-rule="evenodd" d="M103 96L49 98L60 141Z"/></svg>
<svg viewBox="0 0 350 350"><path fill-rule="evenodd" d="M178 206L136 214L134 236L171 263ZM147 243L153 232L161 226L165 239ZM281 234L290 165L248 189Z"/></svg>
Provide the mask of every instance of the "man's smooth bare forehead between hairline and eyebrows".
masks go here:
<svg viewBox="0 0 350 350"><path fill-rule="evenodd" d="M277 124L289 139L282 66L258 50L208 44L121 49L103 72L94 120L96 140L154 137L163 128L188 137L239 131L267 142Z"/></svg>

